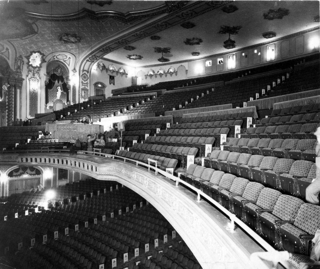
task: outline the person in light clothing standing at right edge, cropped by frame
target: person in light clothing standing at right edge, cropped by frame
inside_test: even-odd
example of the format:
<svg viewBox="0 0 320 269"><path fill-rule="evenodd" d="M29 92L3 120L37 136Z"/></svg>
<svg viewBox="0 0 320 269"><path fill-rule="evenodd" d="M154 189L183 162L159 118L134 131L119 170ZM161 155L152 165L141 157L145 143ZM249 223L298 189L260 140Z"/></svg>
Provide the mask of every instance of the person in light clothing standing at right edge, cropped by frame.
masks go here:
<svg viewBox="0 0 320 269"><path fill-rule="evenodd" d="M314 135L317 138L316 145L316 178L306 189L306 201L312 204L319 204L320 193L320 127L317 128Z"/></svg>

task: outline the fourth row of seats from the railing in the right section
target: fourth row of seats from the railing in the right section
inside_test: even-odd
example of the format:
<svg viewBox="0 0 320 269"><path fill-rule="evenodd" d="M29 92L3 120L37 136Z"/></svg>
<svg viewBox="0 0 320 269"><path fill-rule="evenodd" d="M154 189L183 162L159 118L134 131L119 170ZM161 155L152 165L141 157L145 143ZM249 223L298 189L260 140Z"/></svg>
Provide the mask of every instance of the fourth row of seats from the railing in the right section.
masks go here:
<svg viewBox="0 0 320 269"><path fill-rule="evenodd" d="M278 126L249 127L242 138L314 138L313 133L320 123L281 124Z"/></svg>

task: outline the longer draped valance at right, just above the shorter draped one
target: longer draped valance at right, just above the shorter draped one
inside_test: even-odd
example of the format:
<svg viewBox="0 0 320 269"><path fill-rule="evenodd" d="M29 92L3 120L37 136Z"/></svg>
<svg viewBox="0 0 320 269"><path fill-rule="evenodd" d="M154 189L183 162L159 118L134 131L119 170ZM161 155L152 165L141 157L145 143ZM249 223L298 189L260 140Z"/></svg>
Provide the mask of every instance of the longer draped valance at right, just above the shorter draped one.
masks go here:
<svg viewBox="0 0 320 269"><path fill-rule="evenodd" d="M311 90L311 91L302 91L297 93L290 93L275 97L269 97L264 99L258 99L253 101L248 101L247 106L255 106L258 110L260 109L270 109L273 107L274 103L294 100L294 99L300 99L300 98L306 98L311 96L320 95L320 89Z"/></svg>

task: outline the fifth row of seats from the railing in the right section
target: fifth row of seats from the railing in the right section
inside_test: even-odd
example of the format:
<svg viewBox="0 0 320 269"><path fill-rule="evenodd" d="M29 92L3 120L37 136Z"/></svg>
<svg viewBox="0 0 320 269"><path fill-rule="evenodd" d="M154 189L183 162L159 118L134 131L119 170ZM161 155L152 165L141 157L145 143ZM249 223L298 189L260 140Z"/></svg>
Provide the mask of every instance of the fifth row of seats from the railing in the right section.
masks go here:
<svg viewBox="0 0 320 269"><path fill-rule="evenodd" d="M259 124L256 124L256 127L260 126L269 126L269 125L292 125L292 124L305 124L305 123L319 123L320 122L320 113L307 113L307 114L294 114L286 116L274 116L261 119Z"/></svg>

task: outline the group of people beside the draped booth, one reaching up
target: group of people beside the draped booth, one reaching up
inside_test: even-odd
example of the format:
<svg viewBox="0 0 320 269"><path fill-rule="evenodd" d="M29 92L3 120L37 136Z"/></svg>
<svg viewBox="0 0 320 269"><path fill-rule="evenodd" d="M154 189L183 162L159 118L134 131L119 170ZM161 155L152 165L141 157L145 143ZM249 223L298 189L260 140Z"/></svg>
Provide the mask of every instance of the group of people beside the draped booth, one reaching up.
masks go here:
<svg viewBox="0 0 320 269"><path fill-rule="evenodd" d="M109 139L114 139L114 138L118 139L119 136L120 136L119 132L113 128L109 131L105 131L104 133L100 133L100 134L95 133L93 137L91 134L88 134L87 141L86 141L86 146L87 146L86 151L93 151L93 147L104 148L106 145L106 142L108 142ZM73 141L75 142L75 144L70 148L70 155L74 155L78 150L83 149L82 143L79 138L73 139Z"/></svg>

